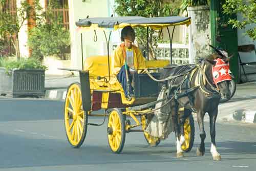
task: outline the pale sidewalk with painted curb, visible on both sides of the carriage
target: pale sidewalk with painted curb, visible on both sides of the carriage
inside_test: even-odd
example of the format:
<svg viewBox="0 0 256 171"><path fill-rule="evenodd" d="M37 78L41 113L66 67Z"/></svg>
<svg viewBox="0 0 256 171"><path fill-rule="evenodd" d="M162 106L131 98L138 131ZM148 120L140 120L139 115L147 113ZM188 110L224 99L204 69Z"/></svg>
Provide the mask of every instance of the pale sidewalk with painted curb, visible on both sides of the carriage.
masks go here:
<svg viewBox="0 0 256 171"><path fill-rule="evenodd" d="M48 99L65 100L66 91L73 82L79 82L78 76L46 75L45 87ZM244 112L245 111L245 112ZM252 111L252 112L249 112ZM255 115L254 115L255 114ZM246 117L247 116L247 117ZM237 84L237 91L228 102L220 103L217 121L256 120L256 82ZM206 120L207 120L206 116ZM250 118L250 120L246 120Z"/></svg>

